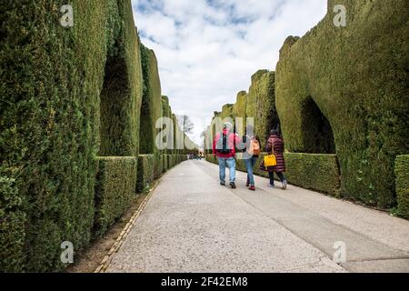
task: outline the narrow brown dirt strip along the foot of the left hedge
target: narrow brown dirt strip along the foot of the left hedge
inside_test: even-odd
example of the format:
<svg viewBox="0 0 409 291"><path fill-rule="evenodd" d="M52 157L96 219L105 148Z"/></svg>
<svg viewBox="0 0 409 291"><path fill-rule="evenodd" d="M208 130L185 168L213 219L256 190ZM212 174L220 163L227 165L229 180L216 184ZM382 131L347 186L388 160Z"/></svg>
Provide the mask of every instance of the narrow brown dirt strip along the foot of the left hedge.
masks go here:
<svg viewBox="0 0 409 291"><path fill-rule="evenodd" d="M67 273L94 273L101 261L108 254L116 239L121 235L124 227L135 214L138 207L144 202L146 194L135 197L131 208L124 216L118 219L105 236L92 243L85 251L75 254L75 264L66 269Z"/></svg>

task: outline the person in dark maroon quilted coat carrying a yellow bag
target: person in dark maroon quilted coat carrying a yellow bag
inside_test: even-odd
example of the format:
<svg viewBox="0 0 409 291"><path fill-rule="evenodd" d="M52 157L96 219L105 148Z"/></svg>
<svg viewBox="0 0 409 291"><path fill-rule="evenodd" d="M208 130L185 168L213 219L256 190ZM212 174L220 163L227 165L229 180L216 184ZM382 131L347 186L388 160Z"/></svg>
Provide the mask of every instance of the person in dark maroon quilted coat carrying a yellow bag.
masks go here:
<svg viewBox="0 0 409 291"><path fill-rule="evenodd" d="M267 146L265 146L265 152L272 154L274 148L274 155L277 160L276 166L269 166L265 169L264 161L261 164L261 169L268 172L268 176L270 177L270 186L274 187L274 172L280 178L282 183L283 190L287 187L287 179L284 176L285 172L285 161L284 161L284 141L283 138L280 136L278 130L272 130L270 132L270 137L267 141Z"/></svg>

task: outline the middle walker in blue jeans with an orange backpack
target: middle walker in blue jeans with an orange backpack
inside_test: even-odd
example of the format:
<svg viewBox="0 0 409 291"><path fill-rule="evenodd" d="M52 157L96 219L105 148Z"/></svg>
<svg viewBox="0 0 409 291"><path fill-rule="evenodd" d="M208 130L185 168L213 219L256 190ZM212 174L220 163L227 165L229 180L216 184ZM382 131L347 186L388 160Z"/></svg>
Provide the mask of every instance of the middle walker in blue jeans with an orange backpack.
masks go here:
<svg viewBox="0 0 409 291"><path fill-rule="evenodd" d="M254 126L247 125L245 127L245 134L243 136L244 147L244 165L247 169L247 183L245 186L249 190L255 191L254 183L254 166L261 153L260 138L254 135Z"/></svg>

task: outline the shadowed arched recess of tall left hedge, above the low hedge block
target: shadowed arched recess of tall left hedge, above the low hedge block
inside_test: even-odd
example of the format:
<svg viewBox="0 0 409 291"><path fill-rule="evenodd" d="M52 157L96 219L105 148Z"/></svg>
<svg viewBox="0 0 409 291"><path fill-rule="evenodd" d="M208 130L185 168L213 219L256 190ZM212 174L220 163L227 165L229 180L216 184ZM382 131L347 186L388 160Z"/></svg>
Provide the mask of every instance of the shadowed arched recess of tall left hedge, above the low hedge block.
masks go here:
<svg viewBox="0 0 409 291"><path fill-rule="evenodd" d="M137 156L139 121L143 99L143 74L139 37L136 35L132 6L128 1L110 1L117 12L109 11L113 23L112 48L108 48L105 79L101 92L100 156ZM117 8L116 8L117 6ZM110 29L110 28L108 28Z"/></svg>

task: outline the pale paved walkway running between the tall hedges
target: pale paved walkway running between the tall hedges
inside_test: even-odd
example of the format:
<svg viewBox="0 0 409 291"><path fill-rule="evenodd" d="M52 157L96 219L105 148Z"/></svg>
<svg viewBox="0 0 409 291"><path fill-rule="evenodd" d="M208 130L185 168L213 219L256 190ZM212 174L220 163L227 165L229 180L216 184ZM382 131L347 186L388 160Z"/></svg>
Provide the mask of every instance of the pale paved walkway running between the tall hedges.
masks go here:
<svg viewBox="0 0 409 291"><path fill-rule="evenodd" d="M238 173L188 161L156 187L108 272L409 272L409 222L289 186L257 191ZM346 263L333 261L334 243Z"/></svg>

